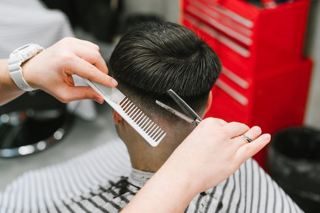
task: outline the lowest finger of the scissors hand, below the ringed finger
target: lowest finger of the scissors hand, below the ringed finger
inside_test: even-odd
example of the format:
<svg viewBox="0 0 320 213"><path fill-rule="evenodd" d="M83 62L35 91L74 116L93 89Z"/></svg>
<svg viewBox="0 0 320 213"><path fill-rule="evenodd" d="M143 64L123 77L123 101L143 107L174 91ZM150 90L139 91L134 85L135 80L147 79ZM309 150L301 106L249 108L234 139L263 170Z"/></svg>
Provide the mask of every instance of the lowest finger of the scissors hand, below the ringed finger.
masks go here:
<svg viewBox="0 0 320 213"><path fill-rule="evenodd" d="M241 139L241 138L239 138ZM235 153L235 157L239 162L244 162L250 157L257 154L263 147L265 147L271 140L270 134L262 134L253 140L251 143L240 146Z"/></svg>

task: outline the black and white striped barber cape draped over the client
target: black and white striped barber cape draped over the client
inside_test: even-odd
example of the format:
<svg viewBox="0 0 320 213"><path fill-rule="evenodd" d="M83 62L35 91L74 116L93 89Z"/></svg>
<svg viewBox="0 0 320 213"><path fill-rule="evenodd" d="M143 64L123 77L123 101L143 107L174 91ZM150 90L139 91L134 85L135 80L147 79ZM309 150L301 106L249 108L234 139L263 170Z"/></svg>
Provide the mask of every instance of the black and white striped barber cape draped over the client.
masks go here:
<svg viewBox="0 0 320 213"><path fill-rule="evenodd" d="M125 145L120 139L110 141L22 175L0 193L0 212L119 212L152 176L132 169L129 178L122 177L130 171ZM249 159L224 182L197 195L186 212L303 211Z"/></svg>

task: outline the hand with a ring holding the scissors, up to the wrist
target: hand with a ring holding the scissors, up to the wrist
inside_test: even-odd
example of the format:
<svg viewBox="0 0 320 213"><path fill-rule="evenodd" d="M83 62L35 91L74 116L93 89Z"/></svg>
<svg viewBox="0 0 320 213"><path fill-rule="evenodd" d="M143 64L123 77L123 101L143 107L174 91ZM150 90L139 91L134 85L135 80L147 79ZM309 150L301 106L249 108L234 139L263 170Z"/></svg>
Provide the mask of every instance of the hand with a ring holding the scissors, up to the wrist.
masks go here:
<svg viewBox="0 0 320 213"><path fill-rule="evenodd" d="M253 141L247 143L239 136L242 134ZM165 164L175 168L186 181L190 180L188 187L193 187L191 190L197 194L232 175L243 162L267 145L270 138L270 134L261 135L260 127L249 129L241 123L209 117L194 129Z"/></svg>

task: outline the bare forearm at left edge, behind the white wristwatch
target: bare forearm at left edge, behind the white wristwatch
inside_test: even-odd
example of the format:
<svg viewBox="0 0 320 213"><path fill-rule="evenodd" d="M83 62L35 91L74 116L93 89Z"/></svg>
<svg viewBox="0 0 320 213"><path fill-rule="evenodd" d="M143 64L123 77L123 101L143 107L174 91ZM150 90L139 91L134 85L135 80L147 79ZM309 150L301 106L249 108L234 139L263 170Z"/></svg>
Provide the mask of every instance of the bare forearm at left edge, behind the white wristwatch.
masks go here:
<svg viewBox="0 0 320 213"><path fill-rule="evenodd" d="M8 59L0 59L0 106L23 93L24 91L19 89L10 77Z"/></svg>

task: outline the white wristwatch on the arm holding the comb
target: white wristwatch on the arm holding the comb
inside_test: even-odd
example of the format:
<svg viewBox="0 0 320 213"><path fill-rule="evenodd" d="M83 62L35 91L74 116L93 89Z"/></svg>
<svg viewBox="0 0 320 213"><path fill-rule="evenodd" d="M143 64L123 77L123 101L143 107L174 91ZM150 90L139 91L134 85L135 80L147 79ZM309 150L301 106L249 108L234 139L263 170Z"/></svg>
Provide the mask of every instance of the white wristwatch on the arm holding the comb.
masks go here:
<svg viewBox="0 0 320 213"><path fill-rule="evenodd" d="M14 83L22 90L25 91L33 91L37 90L32 88L26 80L24 76L22 76L22 68L21 64L25 61L29 60L33 56L37 55L44 49L42 46L34 43L29 43L24 46L20 46L20 48L13 51L9 56L9 72Z"/></svg>

